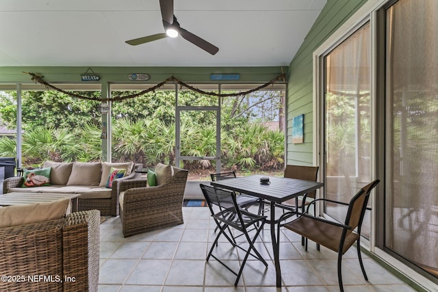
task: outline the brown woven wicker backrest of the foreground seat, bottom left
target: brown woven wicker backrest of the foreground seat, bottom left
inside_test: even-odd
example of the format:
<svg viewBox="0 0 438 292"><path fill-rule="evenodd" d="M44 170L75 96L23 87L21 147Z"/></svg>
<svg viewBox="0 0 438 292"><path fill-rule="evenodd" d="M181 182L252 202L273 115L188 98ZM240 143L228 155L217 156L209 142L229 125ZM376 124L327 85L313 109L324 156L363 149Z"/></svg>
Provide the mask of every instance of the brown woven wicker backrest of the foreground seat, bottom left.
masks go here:
<svg viewBox="0 0 438 292"><path fill-rule="evenodd" d="M27 276L62 276L62 222L51 220L0 228L0 291L62 291L61 282L32 282ZM3 279L3 278L2 278Z"/></svg>

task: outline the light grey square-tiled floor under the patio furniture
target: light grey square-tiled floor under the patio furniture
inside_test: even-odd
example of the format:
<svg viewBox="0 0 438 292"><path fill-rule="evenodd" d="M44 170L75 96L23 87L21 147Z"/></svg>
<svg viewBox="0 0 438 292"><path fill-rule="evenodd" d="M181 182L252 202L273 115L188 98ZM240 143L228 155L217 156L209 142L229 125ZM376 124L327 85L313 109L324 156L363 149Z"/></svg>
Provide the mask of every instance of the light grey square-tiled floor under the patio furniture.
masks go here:
<svg viewBox="0 0 438 292"><path fill-rule="evenodd" d="M237 288L235 276L214 258L205 261L207 249L214 241L214 221L209 209L184 207L184 224L124 238L119 217L101 224L101 263L99 292L298 292L339 291L337 254L309 242L308 252L301 238L282 230L281 269L283 287L275 287L269 226L262 231L257 248L268 261L265 268L249 258ZM237 267L239 252L222 241L218 252ZM344 254L342 271L345 291L415 291L363 254L369 282L363 279L355 248Z"/></svg>

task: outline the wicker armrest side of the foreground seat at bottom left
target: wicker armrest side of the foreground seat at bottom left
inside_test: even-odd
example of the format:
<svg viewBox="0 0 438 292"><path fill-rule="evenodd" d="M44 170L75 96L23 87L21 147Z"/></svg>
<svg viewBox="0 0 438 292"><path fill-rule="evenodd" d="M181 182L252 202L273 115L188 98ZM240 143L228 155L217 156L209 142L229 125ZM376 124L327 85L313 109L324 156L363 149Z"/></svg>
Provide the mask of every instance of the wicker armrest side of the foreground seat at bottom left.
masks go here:
<svg viewBox="0 0 438 292"><path fill-rule="evenodd" d="M64 291L97 291L101 212L81 211L66 216L62 228Z"/></svg>

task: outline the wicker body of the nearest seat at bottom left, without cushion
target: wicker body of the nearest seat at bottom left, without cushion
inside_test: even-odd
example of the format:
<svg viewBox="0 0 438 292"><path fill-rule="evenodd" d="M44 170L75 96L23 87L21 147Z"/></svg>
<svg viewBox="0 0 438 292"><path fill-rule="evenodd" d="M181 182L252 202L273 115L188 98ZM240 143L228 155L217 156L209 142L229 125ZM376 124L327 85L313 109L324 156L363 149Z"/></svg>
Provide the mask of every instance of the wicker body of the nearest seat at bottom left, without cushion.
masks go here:
<svg viewBox="0 0 438 292"><path fill-rule="evenodd" d="M0 291L97 291L99 223L92 210L0 228Z"/></svg>

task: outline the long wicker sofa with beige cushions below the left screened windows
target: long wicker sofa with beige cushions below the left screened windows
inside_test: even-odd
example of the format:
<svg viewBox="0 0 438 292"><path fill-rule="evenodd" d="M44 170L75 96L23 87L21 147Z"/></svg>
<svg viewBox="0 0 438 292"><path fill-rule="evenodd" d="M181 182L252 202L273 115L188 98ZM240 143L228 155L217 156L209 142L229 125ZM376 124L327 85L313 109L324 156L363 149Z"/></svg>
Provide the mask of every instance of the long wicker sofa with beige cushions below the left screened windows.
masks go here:
<svg viewBox="0 0 438 292"><path fill-rule="evenodd" d="M45 161L42 168L51 168L50 185L23 187L25 177L14 176L3 181L3 194L11 192L80 194L79 211L97 209L101 211L101 215L117 216L120 185L124 181L135 178L135 170L142 168L142 164ZM112 187L107 188L105 185L111 168L125 169L127 175L114 180ZM141 181L138 183L140 183L139 186L142 185Z"/></svg>

